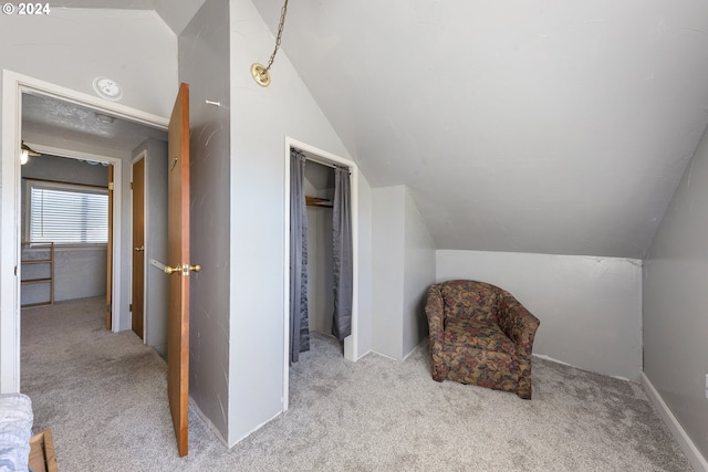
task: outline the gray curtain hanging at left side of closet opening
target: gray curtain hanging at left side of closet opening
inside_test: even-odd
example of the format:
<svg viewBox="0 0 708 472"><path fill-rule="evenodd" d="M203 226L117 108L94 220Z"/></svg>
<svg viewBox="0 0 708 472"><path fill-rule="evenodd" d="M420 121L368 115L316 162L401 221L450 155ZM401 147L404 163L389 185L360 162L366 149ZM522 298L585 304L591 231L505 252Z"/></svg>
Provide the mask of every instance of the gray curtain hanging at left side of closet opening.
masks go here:
<svg viewBox="0 0 708 472"><path fill-rule="evenodd" d="M290 364L310 350L305 156L290 149Z"/></svg>

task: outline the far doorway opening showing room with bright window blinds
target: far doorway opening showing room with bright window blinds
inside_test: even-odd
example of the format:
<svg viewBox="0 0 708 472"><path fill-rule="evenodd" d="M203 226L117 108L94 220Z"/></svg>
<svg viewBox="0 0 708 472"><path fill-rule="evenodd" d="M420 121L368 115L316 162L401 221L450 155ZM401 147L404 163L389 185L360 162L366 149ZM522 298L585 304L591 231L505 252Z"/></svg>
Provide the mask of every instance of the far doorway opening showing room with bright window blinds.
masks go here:
<svg viewBox="0 0 708 472"><path fill-rule="evenodd" d="M33 146L21 170L21 307L96 296L107 307L115 159Z"/></svg>

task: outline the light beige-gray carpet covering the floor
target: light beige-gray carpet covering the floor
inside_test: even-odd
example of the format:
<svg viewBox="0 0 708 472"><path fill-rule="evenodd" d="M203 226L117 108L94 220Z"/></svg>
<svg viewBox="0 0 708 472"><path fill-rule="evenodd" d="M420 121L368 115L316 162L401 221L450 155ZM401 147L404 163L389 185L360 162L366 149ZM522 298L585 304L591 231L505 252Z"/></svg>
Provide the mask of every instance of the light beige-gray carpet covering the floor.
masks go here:
<svg viewBox="0 0 708 472"><path fill-rule="evenodd" d="M165 361L105 332L102 306L22 313L22 391L62 472L693 470L636 384L534 358L527 401L433 381L426 345L403 363L348 363L322 335L292 367L288 412L231 450L190 413L179 459Z"/></svg>

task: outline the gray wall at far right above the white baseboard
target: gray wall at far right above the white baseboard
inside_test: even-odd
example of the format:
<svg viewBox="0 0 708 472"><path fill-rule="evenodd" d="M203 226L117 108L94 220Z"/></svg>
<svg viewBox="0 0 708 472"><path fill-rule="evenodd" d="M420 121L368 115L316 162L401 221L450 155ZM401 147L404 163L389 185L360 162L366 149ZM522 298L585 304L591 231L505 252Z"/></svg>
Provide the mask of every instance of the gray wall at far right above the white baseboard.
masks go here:
<svg viewBox="0 0 708 472"><path fill-rule="evenodd" d="M644 262L644 374L708 458L708 132Z"/></svg>

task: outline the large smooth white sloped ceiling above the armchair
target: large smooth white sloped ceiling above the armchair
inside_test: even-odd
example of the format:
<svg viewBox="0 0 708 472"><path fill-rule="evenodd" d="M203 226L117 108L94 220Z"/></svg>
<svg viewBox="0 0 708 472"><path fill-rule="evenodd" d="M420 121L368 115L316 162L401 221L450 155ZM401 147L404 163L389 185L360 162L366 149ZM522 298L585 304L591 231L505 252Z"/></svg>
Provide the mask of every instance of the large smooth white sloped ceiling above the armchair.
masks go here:
<svg viewBox="0 0 708 472"><path fill-rule="evenodd" d="M439 249L642 258L708 124L705 0L294 1L283 51Z"/></svg>

